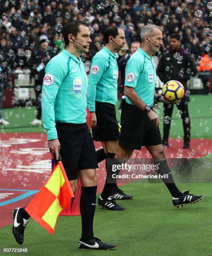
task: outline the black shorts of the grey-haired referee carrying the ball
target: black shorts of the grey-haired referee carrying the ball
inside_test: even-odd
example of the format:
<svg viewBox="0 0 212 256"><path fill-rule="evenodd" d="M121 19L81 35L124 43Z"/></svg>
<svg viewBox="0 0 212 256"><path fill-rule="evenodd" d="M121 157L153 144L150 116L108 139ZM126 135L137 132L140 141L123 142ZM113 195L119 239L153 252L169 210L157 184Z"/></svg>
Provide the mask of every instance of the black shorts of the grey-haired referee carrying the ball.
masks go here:
<svg viewBox="0 0 212 256"><path fill-rule="evenodd" d="M148 115L127 102L121 113L121 134L119 145L128 149L140 149L142 146L163 144L161 133Z"/></svg>

